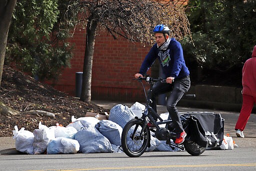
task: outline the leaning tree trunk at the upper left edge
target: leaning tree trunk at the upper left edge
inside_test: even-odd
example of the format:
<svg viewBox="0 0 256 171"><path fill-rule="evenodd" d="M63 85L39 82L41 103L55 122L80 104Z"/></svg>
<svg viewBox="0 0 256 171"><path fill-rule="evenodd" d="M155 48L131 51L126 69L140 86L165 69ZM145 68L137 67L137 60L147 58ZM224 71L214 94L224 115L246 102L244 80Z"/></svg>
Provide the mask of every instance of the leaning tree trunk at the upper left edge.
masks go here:
<svg viewBox="0 0 256 171"><path fill-rule="evenodd" d="M12 12L15 5L16 5L16 0L0 1L0 86L1 86L1 79L2 79L4 56L6 51L8 30L9 30L11 17L12 17Z"/></svg>

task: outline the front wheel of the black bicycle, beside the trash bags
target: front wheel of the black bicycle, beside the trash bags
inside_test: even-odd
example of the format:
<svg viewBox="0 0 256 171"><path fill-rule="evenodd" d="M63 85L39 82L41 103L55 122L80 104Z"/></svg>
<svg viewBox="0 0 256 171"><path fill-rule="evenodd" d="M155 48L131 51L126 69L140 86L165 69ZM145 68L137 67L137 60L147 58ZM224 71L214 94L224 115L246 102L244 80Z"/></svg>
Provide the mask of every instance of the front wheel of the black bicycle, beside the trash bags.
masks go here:
<svg viewBox="0 0 256 171"><path fill-rule="evenodd" d="M126 155L138 157L150 143L150 132L146 126L141 133L143 122L136 118L128 121L122 129L121 145Z"/></svg>

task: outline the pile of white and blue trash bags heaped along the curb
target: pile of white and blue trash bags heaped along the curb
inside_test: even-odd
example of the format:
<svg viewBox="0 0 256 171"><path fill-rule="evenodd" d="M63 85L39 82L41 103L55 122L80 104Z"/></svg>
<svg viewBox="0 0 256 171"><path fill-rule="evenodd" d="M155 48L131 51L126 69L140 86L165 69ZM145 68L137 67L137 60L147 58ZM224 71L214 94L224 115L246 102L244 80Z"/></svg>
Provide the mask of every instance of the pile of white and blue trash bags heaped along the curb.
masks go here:
<svg viewBox="0 0 256 171"><path fill-rule="evenodd" d="M15 148L27 154L58 154L58 153L97 153L123 152L121 148L121 133L124 125L135 116L141 116L143 104L134 103L131 107L117 104L109 112L107 119L96 117L71 117L66 126L56 124L47 127L39 122L38 129L33 132L18 130L14 126L13 139ZM161 115L160 115L161 116ZM150 137L150 147L146 151L178 151L171 149L165 141Z"/></svg>

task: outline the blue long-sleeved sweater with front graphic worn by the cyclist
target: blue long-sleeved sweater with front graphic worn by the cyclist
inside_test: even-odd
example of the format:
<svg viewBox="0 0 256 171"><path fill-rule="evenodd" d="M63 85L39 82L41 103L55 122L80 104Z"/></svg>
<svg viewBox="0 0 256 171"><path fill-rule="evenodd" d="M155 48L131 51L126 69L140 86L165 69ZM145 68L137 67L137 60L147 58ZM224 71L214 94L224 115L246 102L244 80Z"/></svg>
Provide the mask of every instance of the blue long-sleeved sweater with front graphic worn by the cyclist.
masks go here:
<svg viewBox="0 0 256 171"><path fill-rule="evenodd" d="M189 75L189 70L185 65L181 44L175 38L171 38L166 50L159 50L155 43L145 56L139 69L139 73L145 75L156 58L158 58L161 63L162 71L165 76L164 78L169 76L181 78Z"/></svg>

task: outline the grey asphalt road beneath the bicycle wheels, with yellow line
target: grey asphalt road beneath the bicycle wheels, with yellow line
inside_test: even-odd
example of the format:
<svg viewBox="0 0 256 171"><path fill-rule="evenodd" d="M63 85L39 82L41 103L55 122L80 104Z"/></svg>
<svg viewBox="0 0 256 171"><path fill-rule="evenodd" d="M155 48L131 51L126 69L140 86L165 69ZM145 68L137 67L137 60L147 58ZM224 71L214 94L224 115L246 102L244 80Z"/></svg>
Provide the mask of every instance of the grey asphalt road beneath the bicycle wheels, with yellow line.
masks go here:
<svg viewBox="0 0 256 171"><path fill-rule="evenodd" d="M256 149L206 150L199 156L186 151L124 153L0 155L0 170L255 170Z"/></svg>

